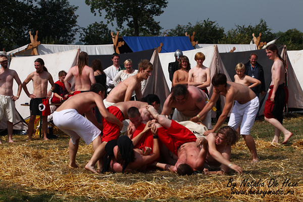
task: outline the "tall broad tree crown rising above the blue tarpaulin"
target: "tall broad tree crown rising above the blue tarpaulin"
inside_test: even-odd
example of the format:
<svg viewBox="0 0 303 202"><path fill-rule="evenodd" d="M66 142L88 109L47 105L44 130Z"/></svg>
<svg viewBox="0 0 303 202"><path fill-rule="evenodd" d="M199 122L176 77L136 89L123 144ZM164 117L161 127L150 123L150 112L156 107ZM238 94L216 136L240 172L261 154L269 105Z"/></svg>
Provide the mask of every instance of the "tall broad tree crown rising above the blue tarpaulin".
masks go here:
<svg viewBox="0 0 303 202"><path fill-rule="evenodd" d="M154 16L160 16L163 9L167 7L167 0L85 0L90 6L90 11L102 16L105 11L105 18L108 23L116 20L119 29L124 29L126 22L128 29L124 32L128 35L159 35L162 29Z"/></svg>

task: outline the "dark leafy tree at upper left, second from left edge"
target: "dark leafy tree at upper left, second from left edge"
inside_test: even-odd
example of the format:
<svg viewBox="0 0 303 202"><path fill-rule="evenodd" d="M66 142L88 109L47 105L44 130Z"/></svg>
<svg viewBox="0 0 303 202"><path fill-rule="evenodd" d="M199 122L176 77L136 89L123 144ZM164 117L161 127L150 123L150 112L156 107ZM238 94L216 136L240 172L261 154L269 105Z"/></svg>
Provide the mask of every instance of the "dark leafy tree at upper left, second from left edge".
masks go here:
<svg viewBox="0 0 303 202"><path fill-rule="evenodd" d="M68 0L40 0L33 9L30 29L39 31L41 43L69 44L75 40L78 31L77 9Z"/></svg>

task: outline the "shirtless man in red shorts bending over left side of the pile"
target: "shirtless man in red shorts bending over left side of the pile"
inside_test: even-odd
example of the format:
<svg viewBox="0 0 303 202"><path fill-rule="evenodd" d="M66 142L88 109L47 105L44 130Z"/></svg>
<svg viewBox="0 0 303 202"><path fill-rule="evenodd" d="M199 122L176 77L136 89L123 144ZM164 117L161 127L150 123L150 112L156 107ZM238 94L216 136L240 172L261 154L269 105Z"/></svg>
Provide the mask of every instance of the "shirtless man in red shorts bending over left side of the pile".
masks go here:
<svg viewBox="0 0 303 202"><path fill-rule="evenodd" d="M131 107L139 109L141 121L149 121L152 117L149 112L145 109L147 103L140 101L127 101L120 102L107 108L107 110L114 114L120 121L128 119L127 110ZM156 106L159 110L160 103ZM97 173L95 164L105 155L105 146L108 141L118 139L121 128L119 129L116 125L110 124L106 120L103 120L103 137L102 143L95 149L90 161L86 164L85 169L93 173Z"/></svg>

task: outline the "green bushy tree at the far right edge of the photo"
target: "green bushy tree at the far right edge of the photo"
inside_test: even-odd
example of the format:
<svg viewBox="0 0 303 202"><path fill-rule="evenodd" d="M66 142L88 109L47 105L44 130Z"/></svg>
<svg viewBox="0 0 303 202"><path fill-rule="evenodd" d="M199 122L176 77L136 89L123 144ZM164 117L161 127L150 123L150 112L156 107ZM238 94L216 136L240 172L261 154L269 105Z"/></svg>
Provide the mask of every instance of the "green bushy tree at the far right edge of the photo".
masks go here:
<svg viewBox="0 0 303 202"><path fill-rule="evenodd" d="M277 41L278 45L286 45L289 51L298 51L303 49L303 33L297 29L289 29L286 32L278 32L276 36L280 36Z"/></svg>

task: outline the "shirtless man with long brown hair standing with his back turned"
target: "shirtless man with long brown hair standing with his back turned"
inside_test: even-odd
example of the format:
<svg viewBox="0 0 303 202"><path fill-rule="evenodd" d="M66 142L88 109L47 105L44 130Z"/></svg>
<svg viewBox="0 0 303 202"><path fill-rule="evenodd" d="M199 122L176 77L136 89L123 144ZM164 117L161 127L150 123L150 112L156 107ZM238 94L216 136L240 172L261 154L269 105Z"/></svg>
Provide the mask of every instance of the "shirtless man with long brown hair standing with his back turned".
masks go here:
<svg viewBox="0 0 303 202"><path fill-rule="evenodd" d="M74 77L75 91L72 92L69 86L69 80ZM72 67L64 79L64 84L70 94L78 94L80 92L89 91L90 86L96 82L93 69L88 67L88 55L81 52L78 57L78 65Z"/></svg>

